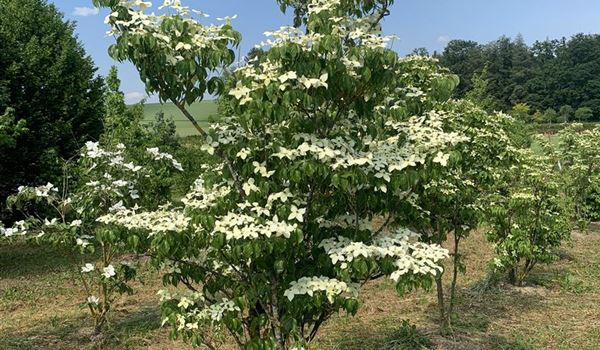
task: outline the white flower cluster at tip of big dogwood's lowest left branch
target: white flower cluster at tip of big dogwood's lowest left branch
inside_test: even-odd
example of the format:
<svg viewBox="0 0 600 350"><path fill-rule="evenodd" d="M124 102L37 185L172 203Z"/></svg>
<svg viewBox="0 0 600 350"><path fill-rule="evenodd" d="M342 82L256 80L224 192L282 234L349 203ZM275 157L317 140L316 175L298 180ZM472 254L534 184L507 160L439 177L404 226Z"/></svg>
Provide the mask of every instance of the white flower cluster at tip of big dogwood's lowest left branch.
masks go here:
<svg viewBox="0 0 600 350"><path fill-rule="evenodd" d="M188 228L191 219L183 211L162 208L151 212L137 213L134 209L120 210L101 216L98 222L119 225L130 230L144 230L149 236L167 232L180 232Z"/></svg>

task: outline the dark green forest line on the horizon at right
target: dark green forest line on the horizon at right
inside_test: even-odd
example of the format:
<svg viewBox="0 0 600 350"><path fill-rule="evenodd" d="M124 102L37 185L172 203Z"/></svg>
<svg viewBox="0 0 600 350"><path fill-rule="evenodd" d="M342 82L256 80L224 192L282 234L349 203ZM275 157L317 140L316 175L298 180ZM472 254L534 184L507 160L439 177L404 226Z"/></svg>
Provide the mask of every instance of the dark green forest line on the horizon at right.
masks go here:
<svg viewBox="0 0 600 350"><path fill-rule="evenodd" d="M600 35L531 46L521 35L487 44L452 40L434 56L460 76L457 97L479 90L489 97L489 109L514 110L537 122L600 120Z"/></svg>

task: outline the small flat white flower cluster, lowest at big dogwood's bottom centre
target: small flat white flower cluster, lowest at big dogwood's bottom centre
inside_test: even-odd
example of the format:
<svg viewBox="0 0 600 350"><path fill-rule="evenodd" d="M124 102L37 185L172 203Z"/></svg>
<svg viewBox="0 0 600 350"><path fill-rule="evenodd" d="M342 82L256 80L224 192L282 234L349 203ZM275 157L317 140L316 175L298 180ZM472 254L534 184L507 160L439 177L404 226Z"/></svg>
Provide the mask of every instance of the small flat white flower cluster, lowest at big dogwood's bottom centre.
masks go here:
<svg viewBox="0 0 600 350"><path fill-rule="evenodd" d="M335 278L324 276L302 277L290 283L290 287L286 289L283 295L291 301L296 295L308 295L312 297L315 293L325 293L327 300L333 303L334 298L342 294L347 294L350 298L356 297L358 295L358 288Z"/></svg>

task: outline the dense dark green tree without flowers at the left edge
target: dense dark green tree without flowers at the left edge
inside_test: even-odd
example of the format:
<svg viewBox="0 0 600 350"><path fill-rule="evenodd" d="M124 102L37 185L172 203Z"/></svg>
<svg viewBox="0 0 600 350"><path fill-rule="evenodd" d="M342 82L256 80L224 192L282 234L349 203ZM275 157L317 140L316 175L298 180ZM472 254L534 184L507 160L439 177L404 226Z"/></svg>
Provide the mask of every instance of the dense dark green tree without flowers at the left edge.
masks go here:
<svg viewBox="0 0 600 350"><path fill-rule="evenodd" d="M103 82L73 31L45 1L0 0L0 114L11 108L28 130L0 152L2 202L18 185L53 178L57 156L102 131Z"/></svg>

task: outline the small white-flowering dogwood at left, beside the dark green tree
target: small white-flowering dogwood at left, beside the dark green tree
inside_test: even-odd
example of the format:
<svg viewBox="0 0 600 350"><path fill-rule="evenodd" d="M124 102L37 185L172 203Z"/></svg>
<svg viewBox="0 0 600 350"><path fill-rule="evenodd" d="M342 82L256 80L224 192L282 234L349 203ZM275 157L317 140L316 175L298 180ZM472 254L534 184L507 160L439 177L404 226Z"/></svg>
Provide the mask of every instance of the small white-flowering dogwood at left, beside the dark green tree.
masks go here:
<svg viewBox="0 0 600 350"><path fill-rule="evenodd" d="M182 170L172 156L158 149L148 149L143 161L132 160L122 144L106 149L88 142L77 164L65 165L60 187L51 183L20 187L8 199L9 206L22 210L26 220L0 229L0 235L32 237L64 248L79 265L77 276L86 293L83 305L89 308L96 331L105 326L115 298L132 293L128 282L136 274L134 261L119 261L120 254L143 251L145 239L103 225L98 218L125 207L139 209L137 203L149 192L144 188L156 173ZM155 202L164 200L154 198Z"/></svg>

